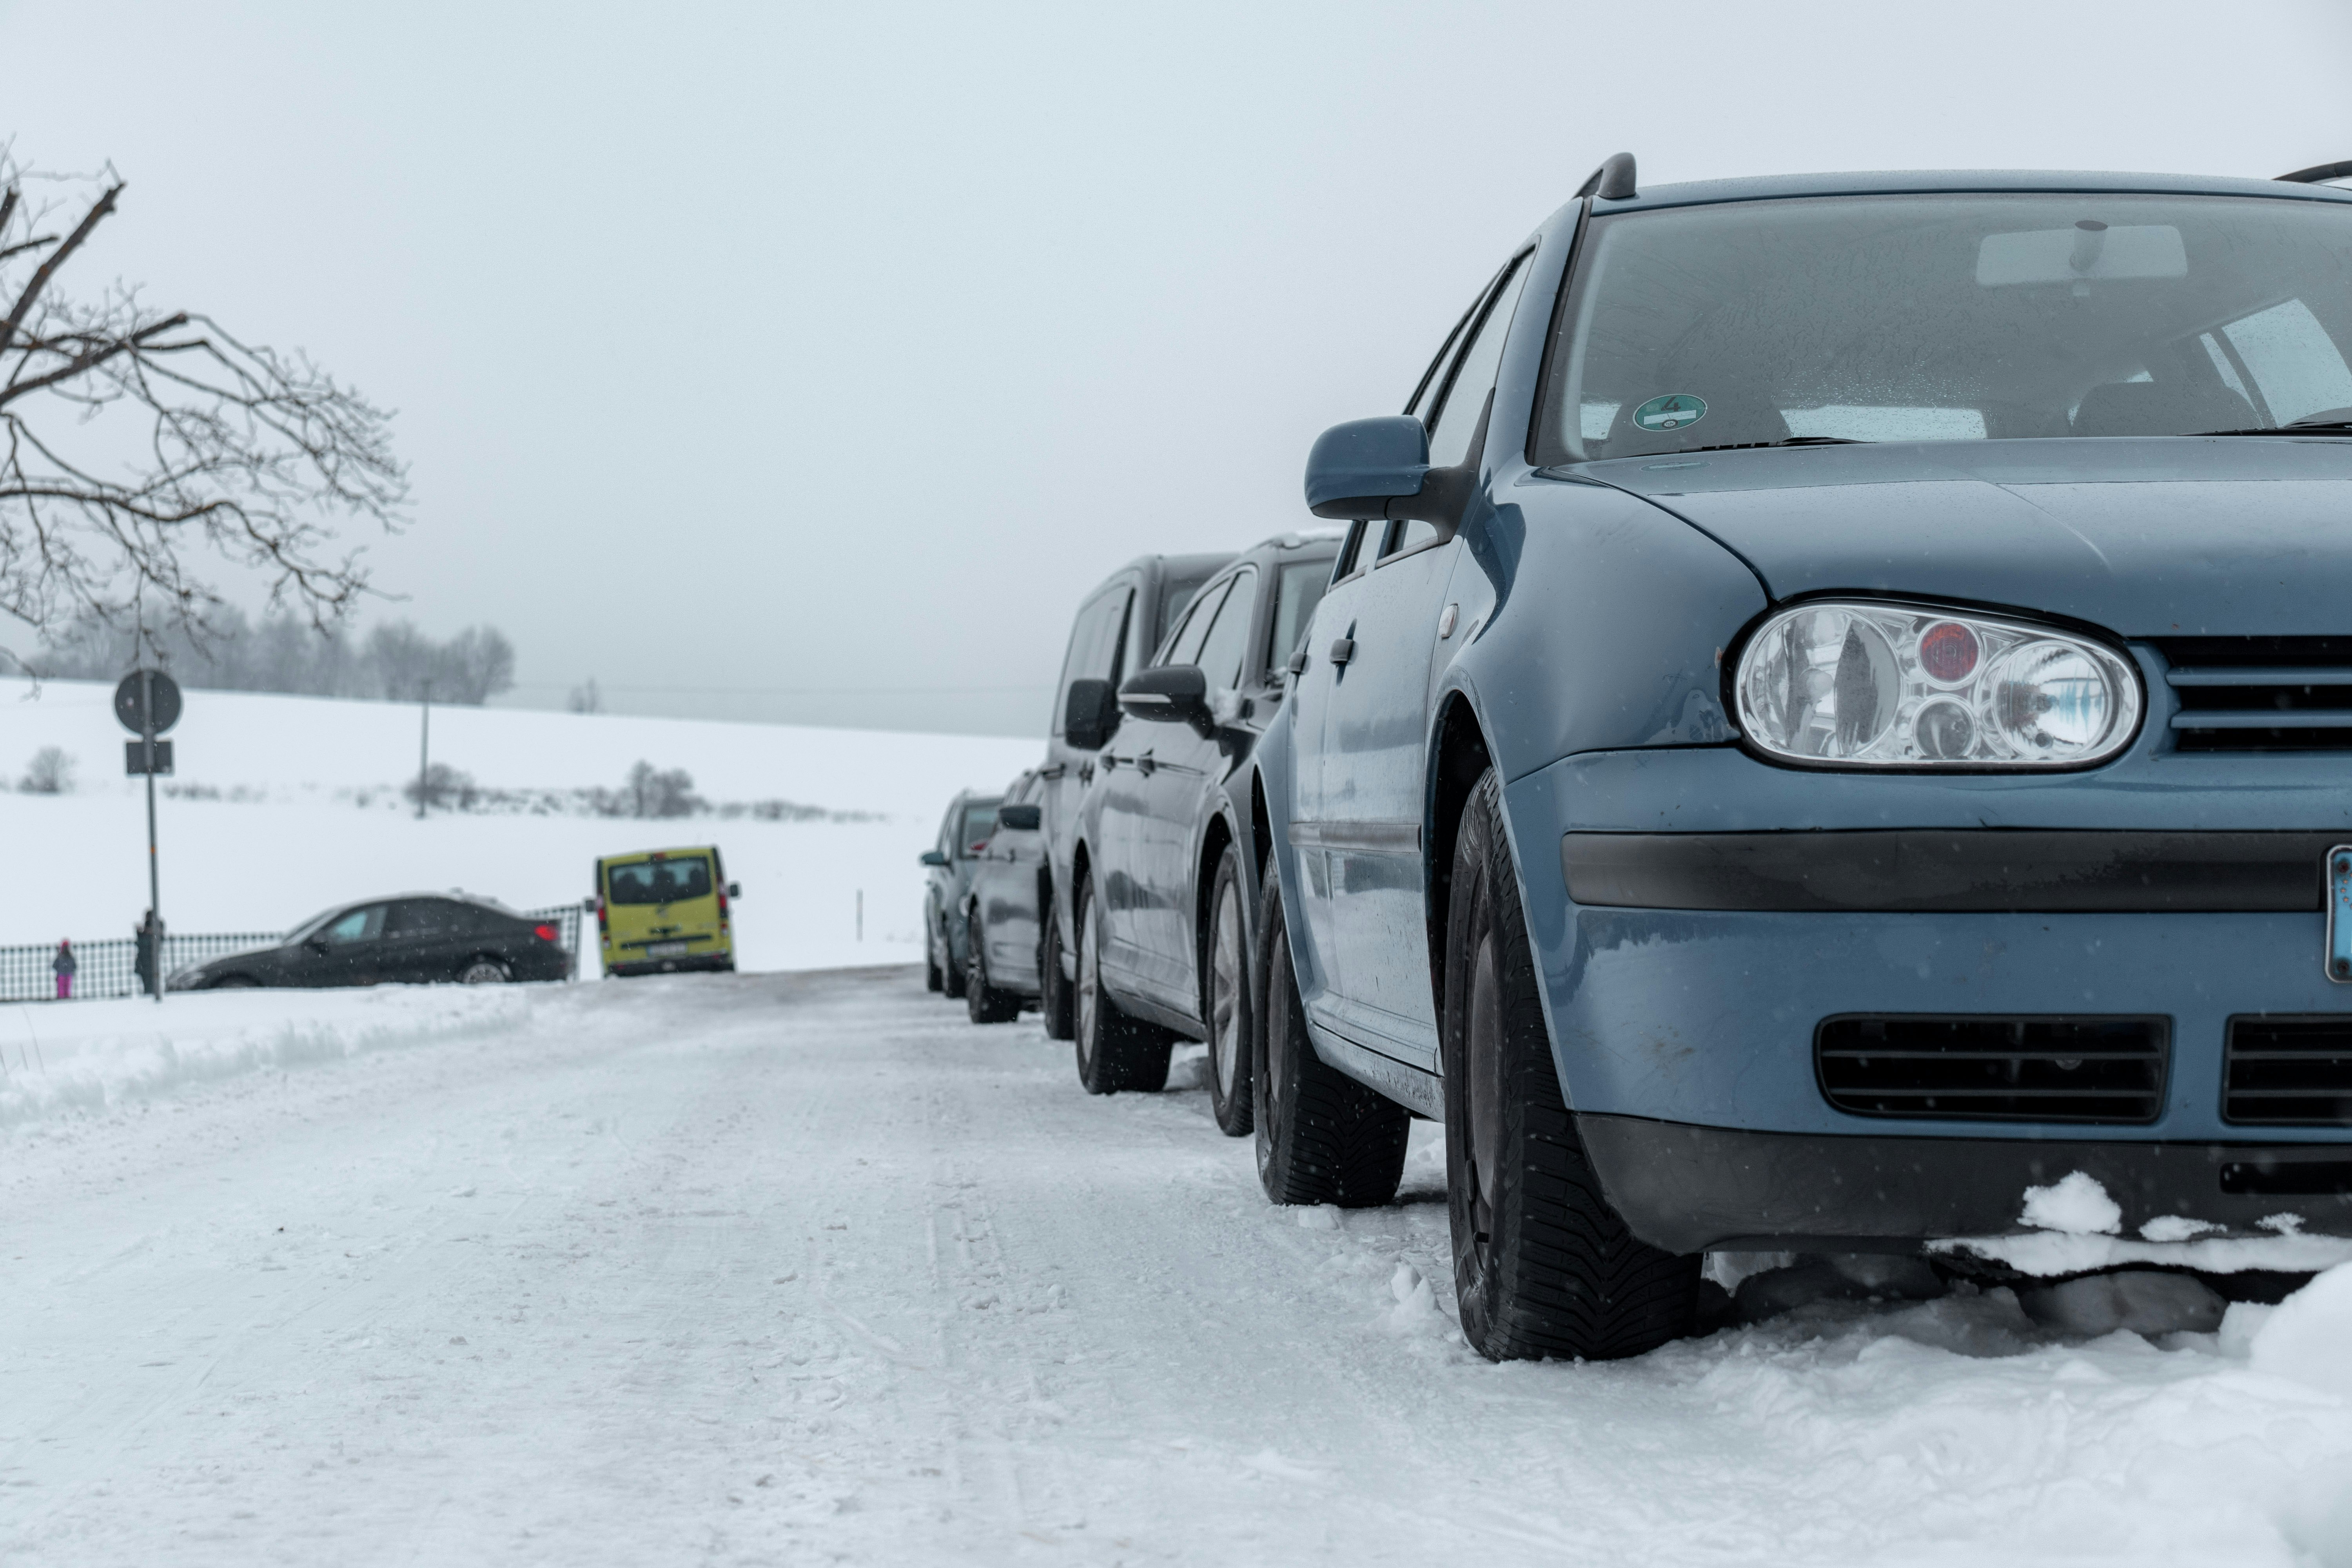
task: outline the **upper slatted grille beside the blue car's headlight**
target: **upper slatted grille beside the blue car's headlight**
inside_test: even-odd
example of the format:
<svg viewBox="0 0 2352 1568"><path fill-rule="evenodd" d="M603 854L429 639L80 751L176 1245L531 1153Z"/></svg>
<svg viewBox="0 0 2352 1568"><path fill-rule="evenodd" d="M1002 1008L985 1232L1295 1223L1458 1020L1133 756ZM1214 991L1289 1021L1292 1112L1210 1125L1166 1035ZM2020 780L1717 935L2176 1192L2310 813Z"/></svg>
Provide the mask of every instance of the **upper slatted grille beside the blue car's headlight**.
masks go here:
<svg viewBox="0 0 2352 1568"><path fill-rule="evenodd" d="M2352 750L2352 637L2161 637L2183 752Z"/></svg>

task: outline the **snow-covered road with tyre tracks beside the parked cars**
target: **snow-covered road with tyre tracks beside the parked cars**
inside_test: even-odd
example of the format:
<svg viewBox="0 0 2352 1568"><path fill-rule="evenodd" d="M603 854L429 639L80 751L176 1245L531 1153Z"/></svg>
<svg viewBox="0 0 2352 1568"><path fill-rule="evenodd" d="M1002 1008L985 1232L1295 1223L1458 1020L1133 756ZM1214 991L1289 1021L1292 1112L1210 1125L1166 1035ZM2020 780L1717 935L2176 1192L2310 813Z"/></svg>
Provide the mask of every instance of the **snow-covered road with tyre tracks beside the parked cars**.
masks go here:
<svg viewBox="0 0 2352 1568"><path fill-rule="evenodd" d="M2352 1276L1489 1366L1428 1126L1275 1211L910 971L301 1006L0 1044L0 1563L2352 1563Z"/></svg>

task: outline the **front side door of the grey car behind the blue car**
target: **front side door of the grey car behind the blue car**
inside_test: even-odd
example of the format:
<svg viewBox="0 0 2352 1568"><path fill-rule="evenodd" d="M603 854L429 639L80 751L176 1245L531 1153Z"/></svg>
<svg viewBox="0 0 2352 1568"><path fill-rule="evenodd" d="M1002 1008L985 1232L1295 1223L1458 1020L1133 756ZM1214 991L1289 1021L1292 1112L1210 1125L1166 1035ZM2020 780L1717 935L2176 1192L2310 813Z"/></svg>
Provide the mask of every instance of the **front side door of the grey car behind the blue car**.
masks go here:
<svg viewBox="0 0 2352 1568"><path fill-rule="evenodd" d="M1244 670L1256 614L1258 569L1242 567L1202 592L1185 637L1169 646L1167 663L1200 665L1218 731L1204 736L1190 724L1136 724L1138 733L1152 738L1152 769L1143 780L1143 816L1136 827L1136 867L1145 884L1136 919L1138 973L1164 1006L1185 1016L1200 1013L1195 851L1216 809L1209 797L1223 788L1232 762L1228 726L1240 719L1242 686L1258 675L1254 668Z"/></svg>

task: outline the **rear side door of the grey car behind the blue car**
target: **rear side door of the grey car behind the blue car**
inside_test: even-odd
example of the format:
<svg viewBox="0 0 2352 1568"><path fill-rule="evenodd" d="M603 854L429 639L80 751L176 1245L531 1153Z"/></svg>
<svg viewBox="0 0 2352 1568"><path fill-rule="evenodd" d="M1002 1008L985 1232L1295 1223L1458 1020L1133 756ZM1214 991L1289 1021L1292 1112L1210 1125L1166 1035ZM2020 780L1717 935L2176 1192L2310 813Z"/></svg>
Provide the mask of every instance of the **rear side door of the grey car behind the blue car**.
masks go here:
<svg viewBox="0 0 2352 1568"><path fill-rule="evenodd" d="M1155 665L1188 665L1200 656L1202 637L1216 618L1230 578L1221 578L1200 590L1200 597L1183 611L1176 635L1162 646ZM1096 889L1103 898L1103 961L1129 985L1167 1001L1171 983L1162 950L1167 936L1167 912L1162 886L1164 870L1155 867L1162 827L1155 820L1157 776L1162 752L1167 766L1183 769L1190 759L1195 733L1181 724L1152 724L1127 719L1120 733L1103 748L1103 776L1096 780Z"/></svg>

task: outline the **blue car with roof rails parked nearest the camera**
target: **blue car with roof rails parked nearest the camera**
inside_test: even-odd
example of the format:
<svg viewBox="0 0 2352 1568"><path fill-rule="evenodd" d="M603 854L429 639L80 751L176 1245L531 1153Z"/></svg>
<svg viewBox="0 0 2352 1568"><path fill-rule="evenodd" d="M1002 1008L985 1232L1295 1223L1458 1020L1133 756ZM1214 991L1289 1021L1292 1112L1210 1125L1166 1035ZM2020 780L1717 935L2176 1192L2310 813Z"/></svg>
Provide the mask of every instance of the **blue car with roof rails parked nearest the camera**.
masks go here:
<svg viewBox="0 0 2352 1568"><path fill-rule="evenodd" d="M1268 1194L1444 1119L1498 1359L2060 1182L2352 1234L2347 174L1595 172L1308 461Z"/></svg>

